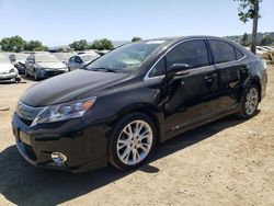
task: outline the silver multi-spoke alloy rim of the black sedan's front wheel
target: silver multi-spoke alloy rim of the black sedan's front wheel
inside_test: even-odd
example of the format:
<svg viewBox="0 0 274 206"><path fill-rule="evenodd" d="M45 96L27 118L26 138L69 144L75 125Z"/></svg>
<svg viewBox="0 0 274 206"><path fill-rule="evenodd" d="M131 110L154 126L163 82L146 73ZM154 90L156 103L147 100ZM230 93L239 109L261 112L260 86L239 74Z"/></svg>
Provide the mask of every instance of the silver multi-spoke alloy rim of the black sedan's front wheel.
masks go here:
<svg viewBox="0 0 274 206"><path fill-rule="evenodd" d="M119 160L134 165L141 162L149 153L153 140L152 129L144 121L134 121L121 131L116 145Z"/></svg>

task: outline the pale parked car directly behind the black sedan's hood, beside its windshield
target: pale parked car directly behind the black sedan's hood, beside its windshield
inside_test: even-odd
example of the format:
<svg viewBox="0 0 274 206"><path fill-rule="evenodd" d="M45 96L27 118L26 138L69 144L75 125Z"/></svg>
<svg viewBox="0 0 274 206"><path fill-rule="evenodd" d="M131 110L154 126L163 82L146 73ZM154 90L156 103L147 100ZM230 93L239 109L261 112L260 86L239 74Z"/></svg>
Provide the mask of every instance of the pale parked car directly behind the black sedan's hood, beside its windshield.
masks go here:
<svg viewBox="0 0 274 206"><path fill-rule="evenodd" d="M89 52L80 55L75 55L69 58L67 61L67 66L70 71L76 70L76 69L82 69L87 64L99 58L100 55L96 54L95 52Z"/></svg>

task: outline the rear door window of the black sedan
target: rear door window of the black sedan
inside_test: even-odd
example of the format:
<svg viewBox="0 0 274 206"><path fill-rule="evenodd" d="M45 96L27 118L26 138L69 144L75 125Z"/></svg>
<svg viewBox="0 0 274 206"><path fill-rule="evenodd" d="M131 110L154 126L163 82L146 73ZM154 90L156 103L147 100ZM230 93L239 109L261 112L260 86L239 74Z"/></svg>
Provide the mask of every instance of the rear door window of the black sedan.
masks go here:
<svg viewBox="0 0 274 206"><path fill-rule="evenodd" d="M208 41L215 64L236 60L235 48L221 41Z"/></svg>

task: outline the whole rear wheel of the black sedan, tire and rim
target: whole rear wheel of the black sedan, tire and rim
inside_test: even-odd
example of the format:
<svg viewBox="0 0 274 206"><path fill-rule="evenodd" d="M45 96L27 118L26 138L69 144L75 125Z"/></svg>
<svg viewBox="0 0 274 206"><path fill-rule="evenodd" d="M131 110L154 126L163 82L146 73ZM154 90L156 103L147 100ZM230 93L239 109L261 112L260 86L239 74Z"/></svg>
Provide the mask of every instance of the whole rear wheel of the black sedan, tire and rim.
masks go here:
<svg viewBox="0 0 274 206"><path fill-rule="evenodd" d="M238 116L249 119L256 114L260 99L260 91L255 84L249 84L242 95L240 112Z"/></svg>

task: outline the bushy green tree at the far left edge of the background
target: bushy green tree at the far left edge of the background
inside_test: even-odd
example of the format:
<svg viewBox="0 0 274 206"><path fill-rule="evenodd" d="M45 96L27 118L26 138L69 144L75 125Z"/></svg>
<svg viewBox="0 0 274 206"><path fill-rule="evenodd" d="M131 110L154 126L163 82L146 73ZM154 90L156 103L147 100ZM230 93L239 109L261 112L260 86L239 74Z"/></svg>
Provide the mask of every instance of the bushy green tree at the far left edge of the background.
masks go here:
<svg viewBox="0 0 274 206"><path fill-rule="evenodd" d="M0 42L3 52L22 52L26 42L21 36L11 36L2 38Z"/></svg>

